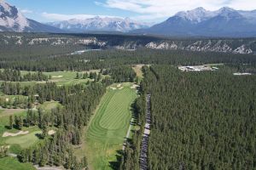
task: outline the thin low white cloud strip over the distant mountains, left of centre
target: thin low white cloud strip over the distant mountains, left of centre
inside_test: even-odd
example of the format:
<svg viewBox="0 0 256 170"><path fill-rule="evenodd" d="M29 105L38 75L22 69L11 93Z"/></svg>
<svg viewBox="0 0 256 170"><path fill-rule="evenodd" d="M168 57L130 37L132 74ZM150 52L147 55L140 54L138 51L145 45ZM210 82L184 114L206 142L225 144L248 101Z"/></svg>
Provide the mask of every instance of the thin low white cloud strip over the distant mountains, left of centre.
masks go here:
<svg viewBox="0 0 256 170"><path fill-rule="evenodd" d="M93 15L93 14L50 14L50 13L42 13L41 14L44 18L49 20L71 20L71 19L89 19L96 16L100 17L110 17L110 18L116 18L117 16L108 16L108 15ZM120 17L119 17L120 18Z"/></svg>

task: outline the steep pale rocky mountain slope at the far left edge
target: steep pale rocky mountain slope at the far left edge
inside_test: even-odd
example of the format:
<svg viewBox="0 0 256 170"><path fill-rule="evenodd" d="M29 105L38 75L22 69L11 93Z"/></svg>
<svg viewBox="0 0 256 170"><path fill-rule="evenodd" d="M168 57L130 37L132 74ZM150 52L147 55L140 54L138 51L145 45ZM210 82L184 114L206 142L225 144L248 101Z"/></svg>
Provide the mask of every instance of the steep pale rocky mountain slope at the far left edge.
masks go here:
<svg viewBox="0 0 256 170"><path fill-rule="evenodd" d="M0 0L0 31L61 32L55 27L26 19L15 6L9 5L3 0Z"/></svg>

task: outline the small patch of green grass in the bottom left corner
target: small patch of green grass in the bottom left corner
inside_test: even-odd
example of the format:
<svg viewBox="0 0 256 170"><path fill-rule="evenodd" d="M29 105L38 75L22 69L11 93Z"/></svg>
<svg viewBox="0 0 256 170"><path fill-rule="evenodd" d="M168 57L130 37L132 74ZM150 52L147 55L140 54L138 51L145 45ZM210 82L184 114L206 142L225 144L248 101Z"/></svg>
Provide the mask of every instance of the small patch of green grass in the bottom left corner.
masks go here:
<svg viewBox="0 0 256 170"><path fill-rule="evenodd" d="M0 170L35 170L31 163L20 163L16 158L4 157L0 159Z"/></svg>

